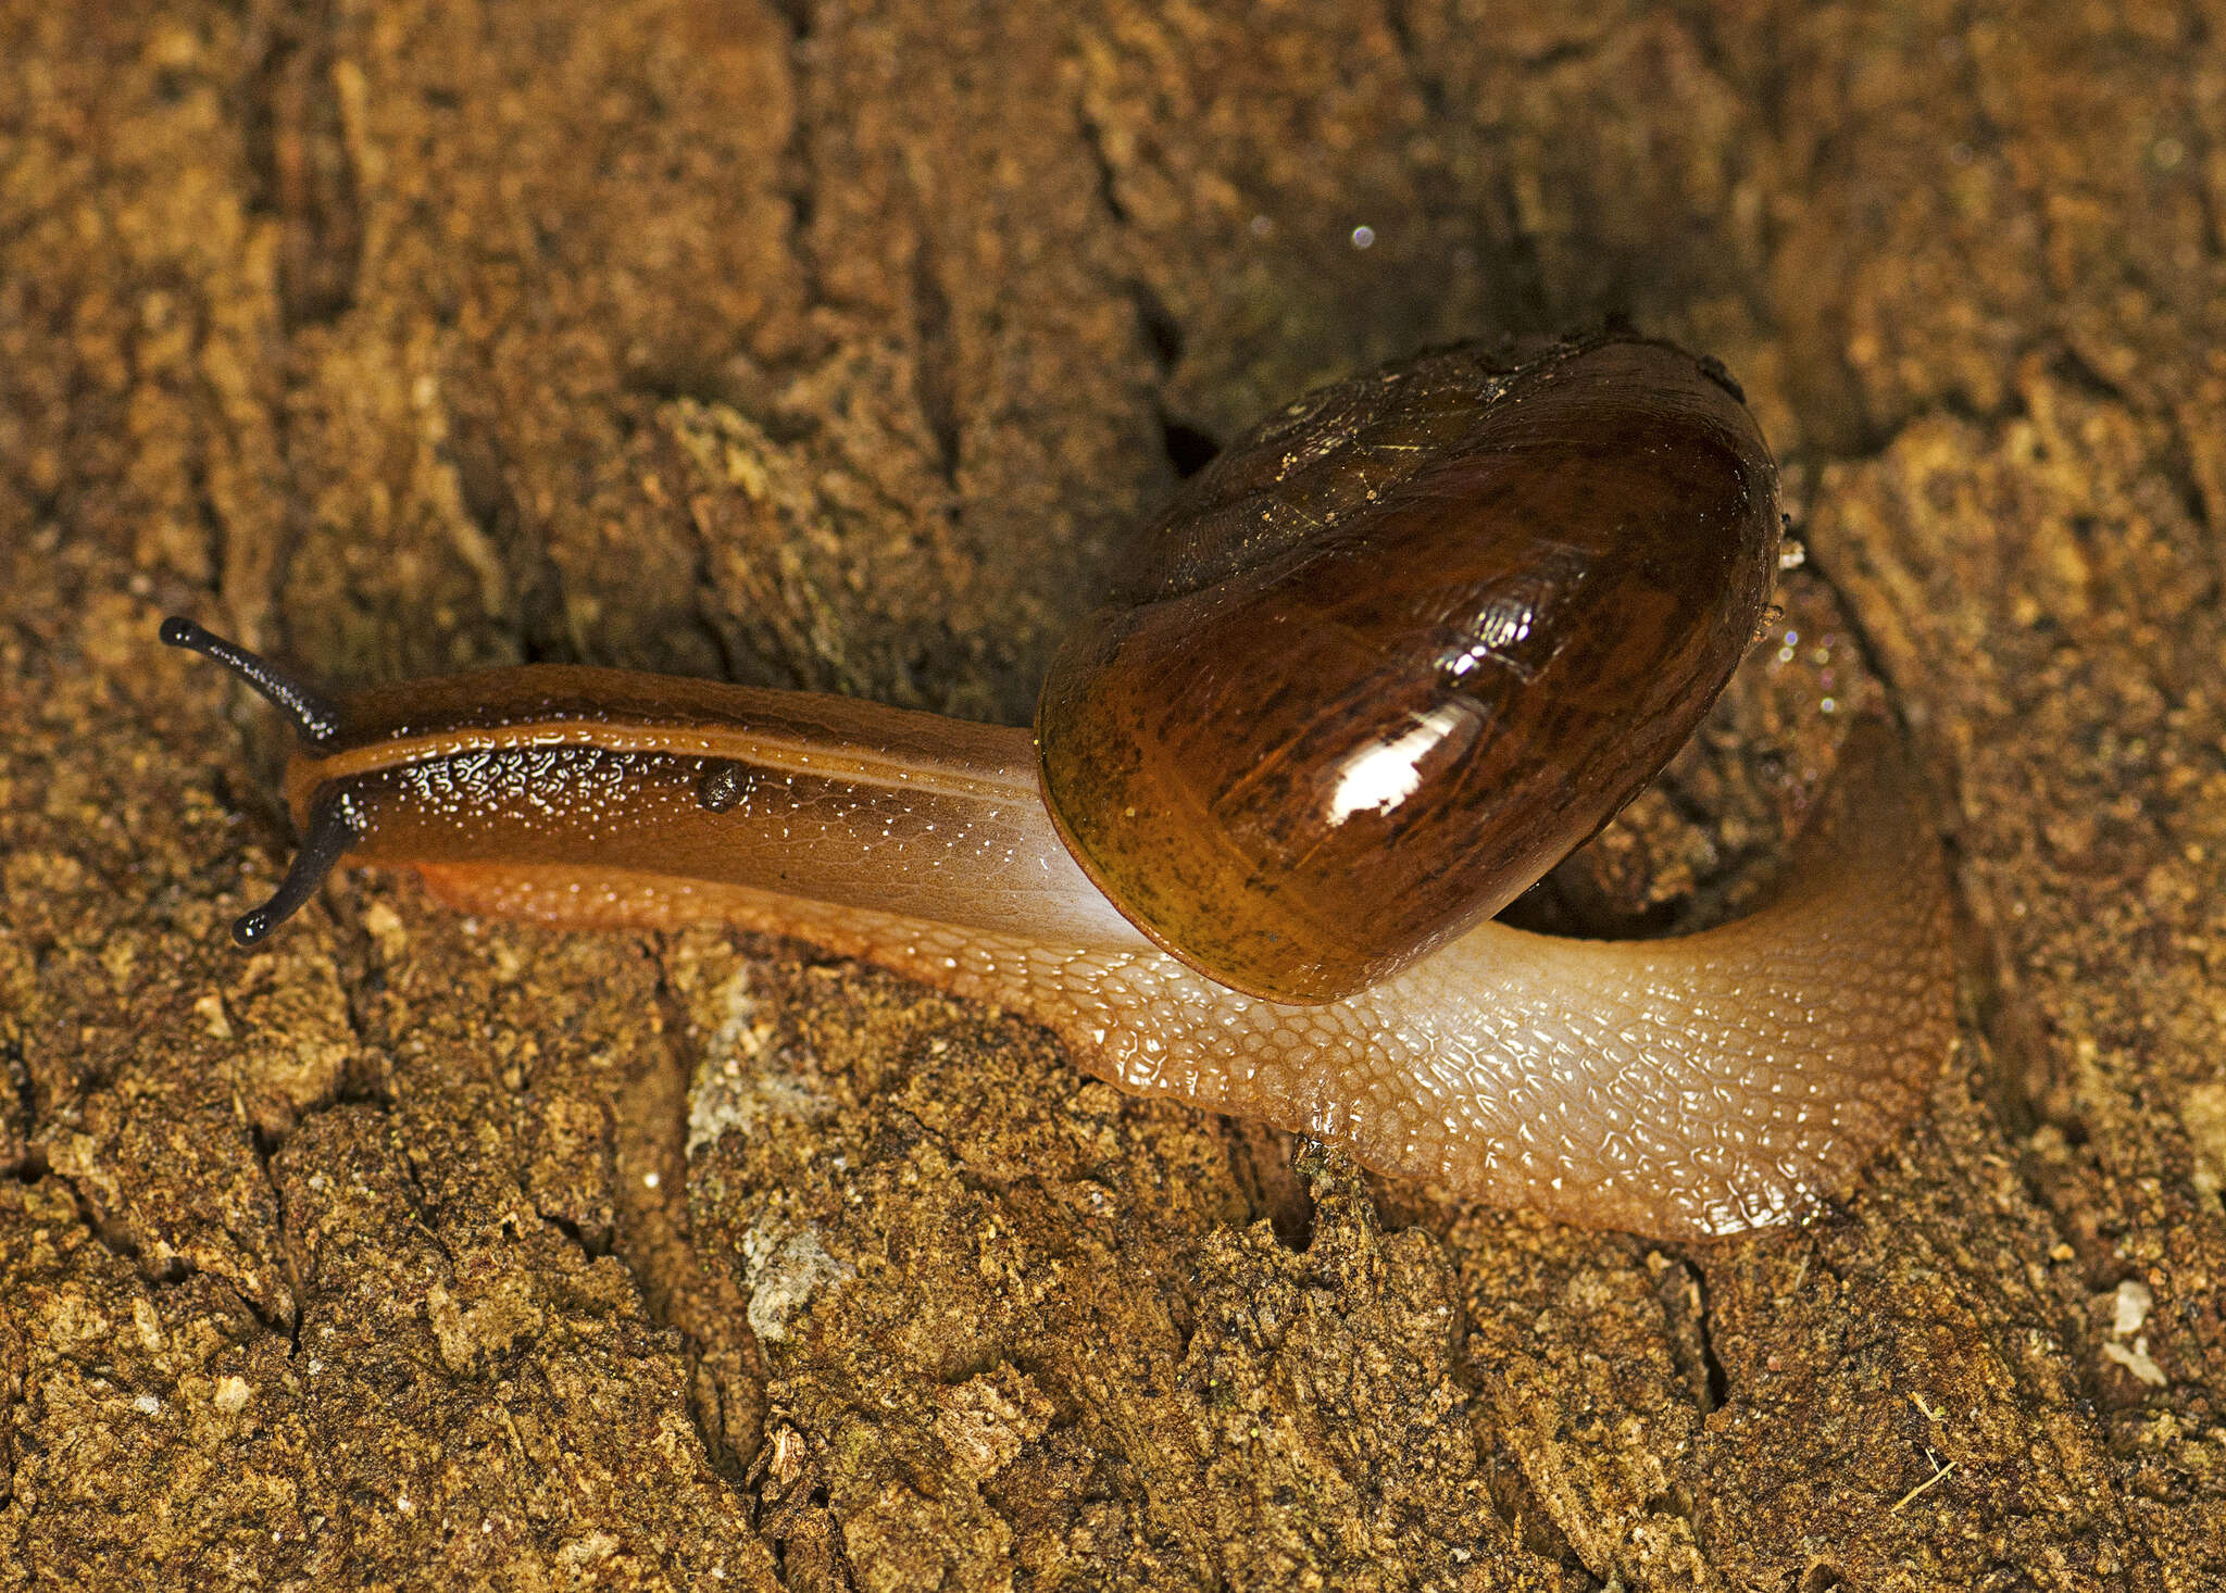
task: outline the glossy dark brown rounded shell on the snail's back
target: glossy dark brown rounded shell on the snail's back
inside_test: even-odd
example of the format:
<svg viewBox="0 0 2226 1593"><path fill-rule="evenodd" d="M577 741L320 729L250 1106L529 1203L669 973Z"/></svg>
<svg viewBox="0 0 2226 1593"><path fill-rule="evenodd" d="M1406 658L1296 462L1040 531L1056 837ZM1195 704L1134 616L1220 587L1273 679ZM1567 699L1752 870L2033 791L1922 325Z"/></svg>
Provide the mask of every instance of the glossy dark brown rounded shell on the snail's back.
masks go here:
<svg viewBox="0 0 2226 1593"><path fill-rule="evenodd" d="M1146 532L1035 734L1075 859L1153 941L1331 1001L1498 912L1692 734L1776 574L1776 465L1641 338L1324 387Z"/></svg>

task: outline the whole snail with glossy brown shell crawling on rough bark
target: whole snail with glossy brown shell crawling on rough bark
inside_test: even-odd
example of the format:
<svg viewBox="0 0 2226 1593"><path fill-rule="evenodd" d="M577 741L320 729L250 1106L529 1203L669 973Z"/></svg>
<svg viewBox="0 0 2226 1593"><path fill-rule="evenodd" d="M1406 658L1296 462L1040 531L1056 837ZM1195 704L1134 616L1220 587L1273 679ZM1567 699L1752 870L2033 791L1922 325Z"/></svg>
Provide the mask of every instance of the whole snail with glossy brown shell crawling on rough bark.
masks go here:
<svg viewBox="0 0 2226 1593"><path fill-rule="evenodd" d="M1776 467L1718 367L1632 334L1324 387L1146 527L1028 730L525 665L332 701L191 621L301 736L303 845L472 912L717 921L1048 1026L1129 1090L1454 1195L1656 1237L1785 1221L1950 1050L1946 877L1856 728L1752 914L1491 921L1687 739L1759 630Z"/></svg>

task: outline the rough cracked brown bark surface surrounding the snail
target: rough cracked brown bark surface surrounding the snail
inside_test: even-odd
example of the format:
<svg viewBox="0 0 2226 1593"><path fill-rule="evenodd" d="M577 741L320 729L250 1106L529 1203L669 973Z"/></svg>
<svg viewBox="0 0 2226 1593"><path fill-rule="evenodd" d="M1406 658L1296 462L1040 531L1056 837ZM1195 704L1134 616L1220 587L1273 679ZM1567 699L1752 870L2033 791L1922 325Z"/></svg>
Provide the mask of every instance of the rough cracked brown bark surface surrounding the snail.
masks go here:
<svg viewBox="0 0 2226 1593"><path fill-rule="evenodd" d="M9 0L0 1584L2219 1586L2222 24ZM1952 839L1963 1048L1805 1228L1462 1210L795 946L223 932L283 732L162 612L1024 723L1178 463L1614 311L1814 574L1558 910L1710 897L1710 759L1854 690Z"/></svg>

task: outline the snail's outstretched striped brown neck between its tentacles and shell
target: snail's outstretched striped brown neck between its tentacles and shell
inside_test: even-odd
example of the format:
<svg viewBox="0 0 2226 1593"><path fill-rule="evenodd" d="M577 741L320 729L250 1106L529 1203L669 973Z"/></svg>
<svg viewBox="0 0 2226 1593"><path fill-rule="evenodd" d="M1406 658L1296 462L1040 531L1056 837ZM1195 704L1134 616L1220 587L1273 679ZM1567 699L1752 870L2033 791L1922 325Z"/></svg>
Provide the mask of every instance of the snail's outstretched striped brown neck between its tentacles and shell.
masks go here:
<svg viewBox="0 0 2226 1593"><path fill-rule="evenodd" d="M303 830L345 805L352 859L436 859L445 872L421 872L450 894L465 874L532 870L552 906L530 917L543 919L717 919L712 888L737 888L1062 946L1144 946L1060 843L1026 730L621 670L461 683L456 712L423 690L407 719L374 694L352 699L352 730L396 723L296 756L287 788ZM666 881L670 908L608 910L643 881ZM568 892L579 910L554 910Z"/></svg>

